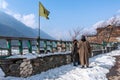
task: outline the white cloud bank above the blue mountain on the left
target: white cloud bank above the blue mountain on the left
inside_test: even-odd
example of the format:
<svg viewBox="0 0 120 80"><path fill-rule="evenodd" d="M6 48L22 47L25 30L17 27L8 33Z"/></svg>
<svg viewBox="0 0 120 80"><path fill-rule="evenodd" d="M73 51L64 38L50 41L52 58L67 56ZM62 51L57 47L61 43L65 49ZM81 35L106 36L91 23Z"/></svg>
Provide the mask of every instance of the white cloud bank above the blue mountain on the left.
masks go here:
<svg viewBox="0 0 120 80"><path fill-rule="evenodd" d="M22 15L20 13L15 13L8 8L8 3L5 0L0 0L0 9L3 9L4 12L13 16L18 21L22 22L28 27L37 28L35 15L30 13L27 15Z"/></svg>

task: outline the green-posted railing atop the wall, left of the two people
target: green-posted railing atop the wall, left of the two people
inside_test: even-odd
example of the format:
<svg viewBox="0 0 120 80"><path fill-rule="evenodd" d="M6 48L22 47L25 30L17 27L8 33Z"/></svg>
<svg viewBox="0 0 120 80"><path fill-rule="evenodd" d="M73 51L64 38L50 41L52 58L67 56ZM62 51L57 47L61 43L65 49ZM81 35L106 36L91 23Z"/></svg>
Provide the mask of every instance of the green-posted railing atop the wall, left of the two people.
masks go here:
<svg viewBox="0 0 120 80"><path fill-rule="evenodd" d="M40 46L38 44L40 43ZM0 55L70 51L71 41L0 36Z"/></svg>

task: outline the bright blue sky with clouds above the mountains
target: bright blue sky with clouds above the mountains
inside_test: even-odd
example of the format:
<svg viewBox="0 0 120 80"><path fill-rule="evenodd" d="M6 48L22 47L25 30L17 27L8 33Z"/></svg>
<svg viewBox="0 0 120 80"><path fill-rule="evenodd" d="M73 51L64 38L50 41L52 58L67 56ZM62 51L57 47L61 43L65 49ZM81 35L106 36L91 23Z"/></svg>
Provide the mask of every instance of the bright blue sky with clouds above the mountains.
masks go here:
<svg viewBox="0 0 120 80"><path fill-rule="evenodd" d="M39 1L50 11L49 20L40 17L41 29L57 39L66 38L76 27L89 29L120 13L120 0L0 0L0 9L38 28Z"/></svg>

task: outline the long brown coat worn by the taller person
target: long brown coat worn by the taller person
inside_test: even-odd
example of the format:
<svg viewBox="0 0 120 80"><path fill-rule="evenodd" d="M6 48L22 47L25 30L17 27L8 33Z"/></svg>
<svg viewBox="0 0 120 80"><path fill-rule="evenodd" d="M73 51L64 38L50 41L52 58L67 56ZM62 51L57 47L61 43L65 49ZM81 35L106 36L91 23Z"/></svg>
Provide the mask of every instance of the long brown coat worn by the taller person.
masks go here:
<svg viewBox="0 0 120 80"><path fill-rule="evenodd" d="M79 41L79 58L81 65L89 66L89 56L91 55L91 48L88 41Z"/></svg>

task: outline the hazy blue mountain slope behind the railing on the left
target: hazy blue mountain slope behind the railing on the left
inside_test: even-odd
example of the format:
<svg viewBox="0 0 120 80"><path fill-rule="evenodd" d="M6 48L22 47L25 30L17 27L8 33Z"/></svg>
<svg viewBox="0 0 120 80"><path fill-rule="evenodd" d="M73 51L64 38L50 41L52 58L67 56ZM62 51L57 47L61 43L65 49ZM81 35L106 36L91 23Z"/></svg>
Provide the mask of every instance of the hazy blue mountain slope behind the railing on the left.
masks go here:
<svg viewBox="0 0 120 80"><path fill-rule="evenodd" d="M38 30L30 28L12 16L0 11L0 36L37 37ZM54 39L42 30L40 30L40 37L43 39Z"/></svg>

